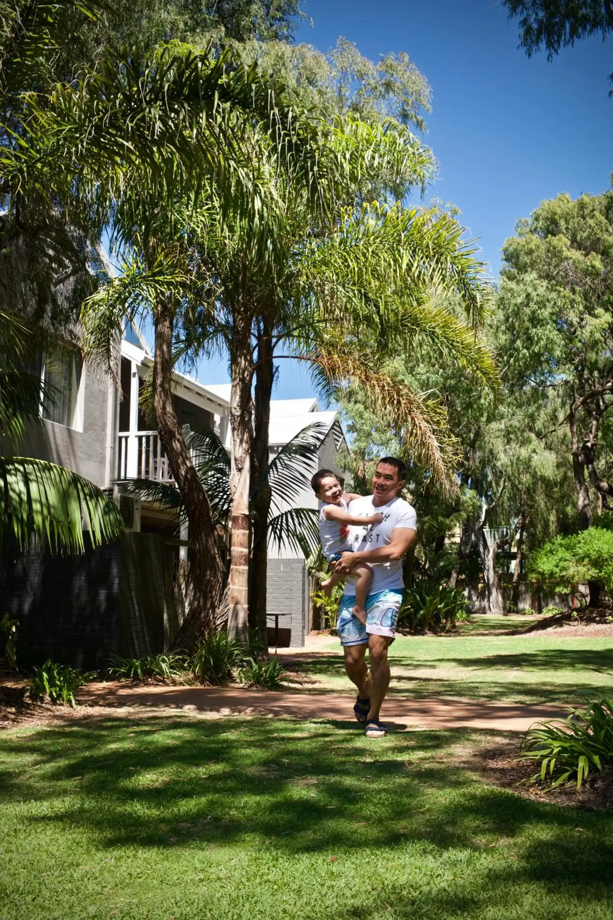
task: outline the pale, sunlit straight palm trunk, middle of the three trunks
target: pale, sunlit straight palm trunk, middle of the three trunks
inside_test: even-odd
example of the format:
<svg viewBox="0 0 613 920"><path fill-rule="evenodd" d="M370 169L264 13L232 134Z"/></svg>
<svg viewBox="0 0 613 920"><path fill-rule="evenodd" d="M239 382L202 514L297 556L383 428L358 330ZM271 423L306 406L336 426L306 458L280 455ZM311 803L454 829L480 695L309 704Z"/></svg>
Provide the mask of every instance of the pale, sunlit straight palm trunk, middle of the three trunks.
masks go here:
<svg viewBox="0 0 613 920"><path fill-rule="evenodd" d="M232 466L230 495L232 500L232 544L230 554L231 636L247 641L249 589L249 470L254 437L254 404L251 396L253 354L251 351L251 317L235 311L231 343L232 390L230 424L232 429Z"/></svg>

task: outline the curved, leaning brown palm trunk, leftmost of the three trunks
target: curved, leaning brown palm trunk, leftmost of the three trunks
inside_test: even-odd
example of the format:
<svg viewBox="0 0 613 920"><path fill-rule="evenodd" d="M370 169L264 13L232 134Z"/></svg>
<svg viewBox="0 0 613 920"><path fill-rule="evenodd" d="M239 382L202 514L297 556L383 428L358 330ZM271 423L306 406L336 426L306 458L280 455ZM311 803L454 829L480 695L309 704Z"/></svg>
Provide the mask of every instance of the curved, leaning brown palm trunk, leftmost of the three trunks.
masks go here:
<svg viewBox="0 0 613 920"><path fill-rule="evenodd" d="M173 324L172 308L158 305L153 357L153 410L160 440L189 522L189 539L193 547L189 566L191 604L175 641L178 648L192 650L199 638L214 627L223 591L224 570L209 499L187 450L173 403Z"/></svg>

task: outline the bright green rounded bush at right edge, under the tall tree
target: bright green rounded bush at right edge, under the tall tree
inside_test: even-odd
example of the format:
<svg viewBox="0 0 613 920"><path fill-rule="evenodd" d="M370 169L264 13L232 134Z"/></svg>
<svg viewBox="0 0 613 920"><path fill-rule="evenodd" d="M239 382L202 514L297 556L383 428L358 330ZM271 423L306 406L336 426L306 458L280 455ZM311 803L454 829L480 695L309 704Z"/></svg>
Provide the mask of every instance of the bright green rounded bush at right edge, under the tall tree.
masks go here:
<svg viewBox="0 0 613 920"><path fill-rule="evenodd" d="M528 578L554 592L570 593L588 581L613 591L613 531L589 527L580 534L556 536L532 554Z"/></svg>

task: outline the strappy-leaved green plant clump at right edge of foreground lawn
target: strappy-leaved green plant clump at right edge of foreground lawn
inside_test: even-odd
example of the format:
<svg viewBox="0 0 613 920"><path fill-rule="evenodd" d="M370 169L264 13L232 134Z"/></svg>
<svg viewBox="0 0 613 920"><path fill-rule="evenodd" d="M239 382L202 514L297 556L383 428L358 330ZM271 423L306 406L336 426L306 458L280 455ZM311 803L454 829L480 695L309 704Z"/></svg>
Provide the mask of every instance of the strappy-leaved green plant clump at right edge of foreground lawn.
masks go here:
<svg viewBox="0 0 613 920"><path fill-rule="evenodd" d="M576 779L581 788L591 769L602 773L613 759L613 702L596 700L585 709L572 709L566 719L537 722L521 745L523 757L538 761L532 776L551 788Z"/></svg>

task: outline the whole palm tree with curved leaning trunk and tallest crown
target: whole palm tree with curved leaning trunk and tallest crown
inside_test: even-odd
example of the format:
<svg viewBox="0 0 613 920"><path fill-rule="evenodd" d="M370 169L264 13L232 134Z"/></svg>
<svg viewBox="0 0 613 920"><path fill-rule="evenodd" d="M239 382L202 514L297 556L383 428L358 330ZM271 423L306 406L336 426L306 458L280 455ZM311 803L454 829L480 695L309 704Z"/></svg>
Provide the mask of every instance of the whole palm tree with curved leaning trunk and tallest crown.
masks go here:
<svg viewBox="0 0 613 920"><path fill-rule="evenodd" d="M330 161L325 174L318 171L317 127L276 99L255 67L234 66L228 52L214 61L167 49L152 63L135 55L111 59L96 73L59 87L48 109L35 104L33 110L28 130L36 128L38 145L12 151L12 168L28 175L40 162L40 147L47 164L51 151L69 167L71 194L92 202L110 227L114 247L130 262L125 278L85 305L85 354L115 374L117 332L125 316L146 313L153 320L153 410L195 546L193 602L182 627L189 647L212 622L224 572L210 502L172 399L175 340L210 313L216 291L207 272L194 270L184 232L188 204L215 189L221 216L232 212L252 220L261 184L252 157L255 142L267 170L275 170L279 181L291 174L314 209L340 167ZM50 186L59 197L66 193L54 173ZM179 190L183 199L177 207Z"/></svg>

